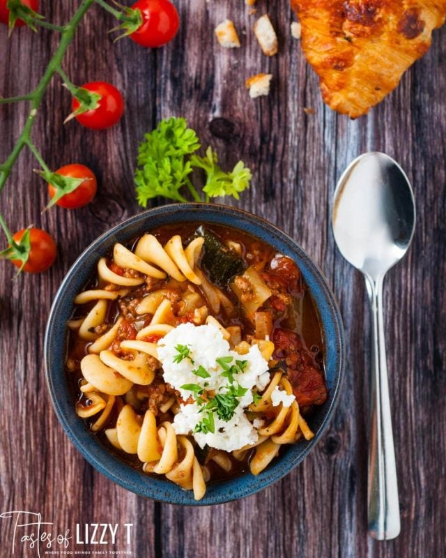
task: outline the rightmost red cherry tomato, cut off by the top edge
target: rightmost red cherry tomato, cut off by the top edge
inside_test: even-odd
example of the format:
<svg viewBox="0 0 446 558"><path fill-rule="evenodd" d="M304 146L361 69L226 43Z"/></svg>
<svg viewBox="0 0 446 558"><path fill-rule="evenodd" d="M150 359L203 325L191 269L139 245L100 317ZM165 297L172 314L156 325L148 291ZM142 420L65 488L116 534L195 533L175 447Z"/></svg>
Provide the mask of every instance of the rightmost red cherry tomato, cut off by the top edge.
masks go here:
<svg viewBox="0 0 446 558"><path fill-rule="evenodd" d="M132 9L141 10L143 23L130 38L141 47L160 47L176 36L180 18L169 0L138 0Z"/></svg>

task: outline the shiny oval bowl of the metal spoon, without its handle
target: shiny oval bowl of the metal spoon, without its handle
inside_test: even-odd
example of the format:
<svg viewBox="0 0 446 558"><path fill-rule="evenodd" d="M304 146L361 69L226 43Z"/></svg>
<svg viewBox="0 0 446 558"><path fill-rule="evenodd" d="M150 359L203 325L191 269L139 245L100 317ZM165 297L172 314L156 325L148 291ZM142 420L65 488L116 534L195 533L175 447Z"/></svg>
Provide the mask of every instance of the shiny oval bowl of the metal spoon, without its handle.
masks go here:
<svg viewBox="0 0 446 558"><path fill-rule="evenodd" d="M356 269L378 278L406 253L415 230L415 201L403 169L385 153L364 153L334 192L334 239Z"/></svg>

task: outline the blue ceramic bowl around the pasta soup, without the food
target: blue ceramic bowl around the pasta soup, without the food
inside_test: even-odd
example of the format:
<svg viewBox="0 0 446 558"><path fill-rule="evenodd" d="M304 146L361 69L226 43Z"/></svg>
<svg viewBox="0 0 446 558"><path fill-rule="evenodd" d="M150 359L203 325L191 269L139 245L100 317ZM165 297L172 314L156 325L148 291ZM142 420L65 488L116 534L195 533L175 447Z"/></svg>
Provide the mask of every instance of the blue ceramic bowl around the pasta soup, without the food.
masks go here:
<svg viewBox="0 0 446 558"><path fill-rule="evenodd" d="M66 322L72 313L73 299L82 291L95 272L98 259L112 252L116 242L125 243L161 225L191 221L217 223L243 229L274 246L278 252L294 259L302 271L321 318L328 387L328 399L312 413L311 428L315 436L311 441L301 441L293 446L286 446L279 457L258 476L247 473L229 481L210 483L205 497L199 502L194 500L192 491L182 490L164 478L147 476L114 457L89 431L84 421L75 414L75 405L65 372ZM113 227L95 240L77 258L56 294L45 333L44 356L49 393L59 421L68 438L95 469L138 495L170 504L199 506L222 504L259 492L288 474L305 459L328 426L339 398L345 359L344 334L339 310L325 278L312 259L289 236L265 220L245 211L216 204L176 204L144 211Z"/></svg>

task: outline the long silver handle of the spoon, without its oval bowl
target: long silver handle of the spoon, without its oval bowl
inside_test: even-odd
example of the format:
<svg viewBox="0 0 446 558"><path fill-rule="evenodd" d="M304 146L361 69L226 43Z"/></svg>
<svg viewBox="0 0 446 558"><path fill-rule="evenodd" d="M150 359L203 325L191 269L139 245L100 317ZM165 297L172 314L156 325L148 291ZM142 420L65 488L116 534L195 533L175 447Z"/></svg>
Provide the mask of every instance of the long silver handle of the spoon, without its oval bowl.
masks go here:
<svg viewBox="0 0 446 558"><path fill-rule="evenodd" d="M369 437L369 535L386 541L399 535L397 467L385 356L383 279L366 276L372 312L372 367Z"/></svg>

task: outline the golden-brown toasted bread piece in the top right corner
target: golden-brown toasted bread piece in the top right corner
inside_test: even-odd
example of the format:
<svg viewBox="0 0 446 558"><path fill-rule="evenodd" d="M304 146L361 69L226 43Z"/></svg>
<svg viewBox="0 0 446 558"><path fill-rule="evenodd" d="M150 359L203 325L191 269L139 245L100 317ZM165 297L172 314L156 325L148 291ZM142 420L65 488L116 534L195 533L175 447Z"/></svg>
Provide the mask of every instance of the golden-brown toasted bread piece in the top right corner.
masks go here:
<svg viewBox="0 0 446 558"><path fill-rule="evenodd" d="M398 84L445 22L446 0L291 0L323 100L357 118Z"/></svg>

